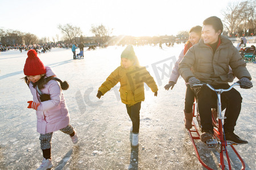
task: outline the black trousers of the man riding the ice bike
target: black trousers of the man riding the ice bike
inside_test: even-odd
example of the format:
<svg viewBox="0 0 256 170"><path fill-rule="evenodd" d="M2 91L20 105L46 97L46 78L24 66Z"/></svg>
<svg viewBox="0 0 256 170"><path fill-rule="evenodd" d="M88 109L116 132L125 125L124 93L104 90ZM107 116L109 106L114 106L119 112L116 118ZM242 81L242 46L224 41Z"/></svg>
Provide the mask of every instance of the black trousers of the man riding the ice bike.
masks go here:
<svg viewBox="0 0 256 170"><path fill-rule="evenodd" d="M215 89L227 89L230 86L228 84L213 85ZM210 90L207 86L197 88L193 90L196 94L198 101L198 109L201 119L202 130L213 131L212 126L212 112L211 108L217 105L217 94L216 92ZM236 126L237 118L241 111L242 97L240 93L232 88L228 92L223 92L221 94L221 104L225 105L225 117L224 120L224 131L234 131L234 126Z"/></svg>

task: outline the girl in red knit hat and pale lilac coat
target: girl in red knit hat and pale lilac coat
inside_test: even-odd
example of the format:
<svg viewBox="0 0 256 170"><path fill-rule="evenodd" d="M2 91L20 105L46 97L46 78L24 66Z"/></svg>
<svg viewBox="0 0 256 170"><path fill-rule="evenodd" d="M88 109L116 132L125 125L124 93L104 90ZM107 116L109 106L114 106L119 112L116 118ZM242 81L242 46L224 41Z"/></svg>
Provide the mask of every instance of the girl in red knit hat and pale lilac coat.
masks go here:
<svg viewBox="0 0 256 170"><path fill-rule="evenodd" d="M45 67L34 49L27 53L24 65L25 82L33 95L28 108L36 110L37 131L40 133L40 146L43 162L38 169L52 168L51 139L53 131L60 130L68 134L72 142L78 142L76 130L69 125L69 112L62 90L68 89L68 83L56 78L50 67ZM58 83L59 82L59 83Z"/></svg>

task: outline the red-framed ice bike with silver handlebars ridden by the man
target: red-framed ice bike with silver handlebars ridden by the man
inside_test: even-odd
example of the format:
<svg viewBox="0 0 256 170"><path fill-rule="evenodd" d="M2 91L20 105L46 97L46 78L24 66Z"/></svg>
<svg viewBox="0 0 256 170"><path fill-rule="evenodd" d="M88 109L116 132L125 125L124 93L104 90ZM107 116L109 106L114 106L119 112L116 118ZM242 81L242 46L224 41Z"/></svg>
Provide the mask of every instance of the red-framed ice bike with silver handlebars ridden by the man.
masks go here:
<svg viewBox="0 0 256 170"><path fill-rule="evenodd" d="M226 92L231 90L234 86L240 86L239 83L234 83L232 84L232 86L230 86L228 89L224 90L224 89L214 89L212 86L210 86L209 84L203 83L203 84L196 84L195 86L208 86L211 90L215 91L217 94L217 120L216 118L214 118L213 114L212 114L212 122L214 125L214 133L213 133L213 139L210 139L206 142L206 145L208 147L214 147L217 152L220 153L220 162L219 162L219 166L221 169L225 168L225 164L224 164L224 153L226 155L226 160L228 162L228 167L229 169L231 168L231 164L230 164L230 159L229 159L229 154L228 154L228 150L227 150L227 146L230 146L234 153L237 155L237 157L240 159L240 162L242 164L242 168L241 169L245 169L245 162L243 162L243 159L241 158L241 156L238 154L236 148L234 148L233 145L237 145L236 143L232 143L232 142L227 142L225 141L225 137L223 135L223 121L226 117L222 116L222 111L221 111L221 93L222 92ZM195 110L197 112L195 112ZM213 112L213 111L212 111ZM201 126L200 124L200 116L199 116L199 112L197 110L197 103L195 101L194 105L193 105L193 117L196 117L196 120L199 124L199 128ZM197 128L195 122L192 120L192 128L191 129L187 129L188 130L188 134L189 137L191 138L191 141L193 143L193 147L196 151L196 156L199 159L199 162L207 169L212 169L210 167L208 167L208 165L206 165L203 160L201 160L199 152L197 151L197 147L195 145L195 140L200 140L200 133L199 133L199 129Z"/></svg>

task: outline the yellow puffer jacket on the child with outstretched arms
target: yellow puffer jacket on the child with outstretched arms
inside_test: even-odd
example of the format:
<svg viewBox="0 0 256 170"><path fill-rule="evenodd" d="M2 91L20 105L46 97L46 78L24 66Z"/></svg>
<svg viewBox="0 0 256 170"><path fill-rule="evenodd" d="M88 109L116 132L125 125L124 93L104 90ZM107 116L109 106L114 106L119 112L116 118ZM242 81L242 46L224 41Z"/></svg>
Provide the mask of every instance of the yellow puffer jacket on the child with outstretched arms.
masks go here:
<svg viewBox="0 0 256 170"><path fill-rule="evenodd" d="M122 65L117 67L106 79L99 91L104 95L112 87L120 82L119 89L122 103L134 105L140 101L144 101L144 83L151 88L152 92L158 91L154 78L148 73L146 67L131 66L125 69Z"/></svg>

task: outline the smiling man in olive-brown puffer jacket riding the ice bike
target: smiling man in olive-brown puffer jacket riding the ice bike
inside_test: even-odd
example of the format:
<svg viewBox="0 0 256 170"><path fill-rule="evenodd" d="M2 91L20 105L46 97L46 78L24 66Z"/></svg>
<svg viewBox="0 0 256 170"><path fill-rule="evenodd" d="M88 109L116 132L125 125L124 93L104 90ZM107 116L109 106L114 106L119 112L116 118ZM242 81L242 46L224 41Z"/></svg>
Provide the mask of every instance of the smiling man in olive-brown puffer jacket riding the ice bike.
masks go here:
<svg viewBox="0 0 256 170"><path fill-rule="evenodd" d="M223 24L220 18L211 16L205 19L199 44L192 46L179 63L179 73L191 88L202 82L212 85L215 89L229 88L229 66L234 75L240 79L241 88L253 87L245 61L232 42L221 36L222 31ZM207 142L213 138L211 108L213 104L216 104L216 93L207 86L193 88L193 91L197 97L201 118L202 134L200 139L202 142ZM234 134L234 126L236 126L241 111L242 97L240 93L232 88L232 90L221 94L221 101L226 107L224 121L226 141L237 144L247 143Z"/></svg>

